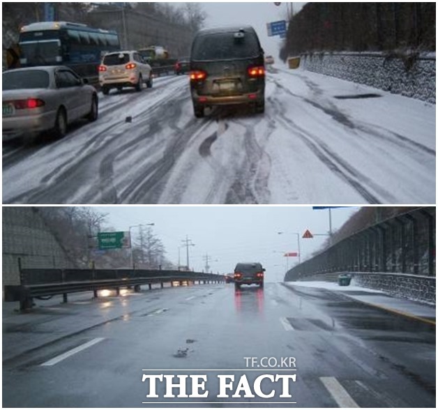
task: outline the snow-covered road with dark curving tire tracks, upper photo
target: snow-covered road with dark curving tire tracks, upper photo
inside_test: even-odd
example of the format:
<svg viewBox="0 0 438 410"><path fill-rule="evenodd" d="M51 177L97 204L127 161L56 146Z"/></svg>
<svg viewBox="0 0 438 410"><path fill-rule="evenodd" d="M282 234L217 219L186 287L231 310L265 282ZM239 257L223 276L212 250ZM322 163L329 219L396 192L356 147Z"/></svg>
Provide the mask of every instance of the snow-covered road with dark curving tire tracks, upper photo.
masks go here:
<svg viewBox="0 0 438 410"><path fill-rule="evenodd" d="M435 204L435 105L282 67L264 115L197 120L187 77L100 97L60 141L3 144L3 203Z"/></svg>

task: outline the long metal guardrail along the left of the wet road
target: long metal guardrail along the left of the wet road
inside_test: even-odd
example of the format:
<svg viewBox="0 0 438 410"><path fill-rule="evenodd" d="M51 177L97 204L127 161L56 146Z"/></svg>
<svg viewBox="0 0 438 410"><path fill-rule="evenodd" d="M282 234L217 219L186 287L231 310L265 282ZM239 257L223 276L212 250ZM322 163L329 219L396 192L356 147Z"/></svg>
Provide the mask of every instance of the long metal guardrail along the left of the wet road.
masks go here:
<svg viewBox="0 0 438 410"><path fill-rule="evenodd" d="M93 291L97 297L100 289L116 289L133 287L139 291L143 284L174 282L216 283L223 282L223 275L212 273L197 273L190 271L145 271L133 269L22 269L20 268L20 284L5 285L4 297L6 302L20 302L20 310L29 310L33 298L67 295L82 291Z"/></svg>

